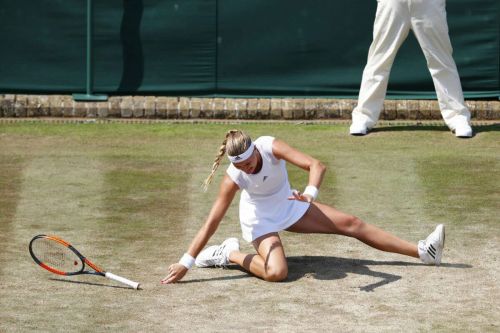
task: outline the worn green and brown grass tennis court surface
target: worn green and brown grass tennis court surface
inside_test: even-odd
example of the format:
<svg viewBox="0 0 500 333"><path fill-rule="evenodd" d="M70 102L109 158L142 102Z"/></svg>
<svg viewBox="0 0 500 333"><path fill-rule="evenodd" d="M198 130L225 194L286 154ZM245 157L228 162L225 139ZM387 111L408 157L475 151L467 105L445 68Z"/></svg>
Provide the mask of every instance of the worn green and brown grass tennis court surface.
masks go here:
<svg viewBox="0 0 500 333"><path fill-rule="evenodd" d="M206 193L202 182L232 128L319 158L328 168L320 201L400 237L416 242L445 223L444 265L424 267L348 238L283 233L288 282L193 269L185 283L161 286L210 210L227 159ZM85 331L88 318L109 331L498 329L500 126L476 127L470 140L442 126L388 125L366 137L347 130L0 123L0 331ZM289 176L297 189L307 183L296 167ZM237 210L235 200L210 244L239 237ZM144 290L42 271L27 254L38 233L67 238Z"/></svg>

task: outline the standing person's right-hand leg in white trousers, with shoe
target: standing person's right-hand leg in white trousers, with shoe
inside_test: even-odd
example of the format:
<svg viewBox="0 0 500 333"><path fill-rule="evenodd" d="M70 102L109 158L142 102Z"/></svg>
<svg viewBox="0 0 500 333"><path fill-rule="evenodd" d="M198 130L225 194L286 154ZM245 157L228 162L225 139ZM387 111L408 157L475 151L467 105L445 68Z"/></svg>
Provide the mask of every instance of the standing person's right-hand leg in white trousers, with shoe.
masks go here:
<svg viewBox="0 0 500 333"><path fill-rule="evenodd" d="M412 29L424 52L436 89L443 119L457 136L467 134L470 112L464 102L460 77L453 60L453 48L448 35L445 0L418 0L412 6ZM464 134L464 135L460 135Z"/></svg>

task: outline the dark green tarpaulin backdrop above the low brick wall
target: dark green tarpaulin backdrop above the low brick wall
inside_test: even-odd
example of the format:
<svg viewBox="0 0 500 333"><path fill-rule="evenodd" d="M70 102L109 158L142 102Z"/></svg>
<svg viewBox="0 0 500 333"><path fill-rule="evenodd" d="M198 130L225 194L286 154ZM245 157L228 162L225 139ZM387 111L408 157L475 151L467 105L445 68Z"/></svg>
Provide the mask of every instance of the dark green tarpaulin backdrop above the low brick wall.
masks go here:
<svg viewBox="0 0 500 333"><path fill-rule="evenodd" d="M93 0L94 90L355 98L375 0ZM0 0L0 93L84 92L85 0ZM449 0L466 97L500 96L500 2ZM410 34L389 97L433 98Z"/></svg>

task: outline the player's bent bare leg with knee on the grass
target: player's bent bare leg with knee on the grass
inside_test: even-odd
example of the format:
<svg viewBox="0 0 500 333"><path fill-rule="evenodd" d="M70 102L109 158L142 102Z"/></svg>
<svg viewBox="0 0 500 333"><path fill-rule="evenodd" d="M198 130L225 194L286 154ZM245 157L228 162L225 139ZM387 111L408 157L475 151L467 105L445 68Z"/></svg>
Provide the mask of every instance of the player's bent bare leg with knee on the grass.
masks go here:
<svg viewBox="0 0 500 333"><path fill-rule="evenodd" d="M240 265L250 273L266 281L283 281L288 275L288 264L281 239L277 233L257 238L253 245L257 254L233 251L229 260Z"/></svg>

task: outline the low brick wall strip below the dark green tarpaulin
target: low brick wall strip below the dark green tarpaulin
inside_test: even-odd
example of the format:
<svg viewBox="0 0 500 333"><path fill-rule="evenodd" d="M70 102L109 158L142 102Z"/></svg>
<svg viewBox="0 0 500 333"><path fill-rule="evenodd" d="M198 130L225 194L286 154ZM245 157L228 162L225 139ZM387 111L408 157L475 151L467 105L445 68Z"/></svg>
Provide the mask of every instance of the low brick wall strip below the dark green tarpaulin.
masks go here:
<svg viewBox="0 0 500 333"><path fill-rule="evenodd" d="M473 120L500 120L500 101L467 101ZM75 102L70 95L0 95L0 117L138 119L350 119L353 99L120 96ZM381 120L441 119L435 100L386 100Z"/></svg>

